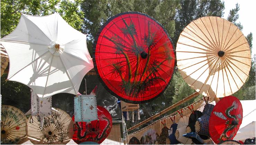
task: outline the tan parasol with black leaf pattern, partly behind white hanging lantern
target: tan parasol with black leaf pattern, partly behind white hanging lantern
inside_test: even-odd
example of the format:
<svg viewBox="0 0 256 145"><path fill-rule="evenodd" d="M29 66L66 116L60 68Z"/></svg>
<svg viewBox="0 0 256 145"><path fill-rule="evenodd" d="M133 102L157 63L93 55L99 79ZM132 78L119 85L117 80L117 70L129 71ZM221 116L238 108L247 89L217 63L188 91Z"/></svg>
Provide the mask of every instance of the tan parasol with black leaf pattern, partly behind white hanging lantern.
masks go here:
<svg viewBox="0 0 256 145"><path fill-rule="evenodd" d="M61 109L52 111L52 115L45 117L43 128L40 121L32 116L27 121L28 138L33 144L67 144L73 132L73 121L70 115Z"/></svg>

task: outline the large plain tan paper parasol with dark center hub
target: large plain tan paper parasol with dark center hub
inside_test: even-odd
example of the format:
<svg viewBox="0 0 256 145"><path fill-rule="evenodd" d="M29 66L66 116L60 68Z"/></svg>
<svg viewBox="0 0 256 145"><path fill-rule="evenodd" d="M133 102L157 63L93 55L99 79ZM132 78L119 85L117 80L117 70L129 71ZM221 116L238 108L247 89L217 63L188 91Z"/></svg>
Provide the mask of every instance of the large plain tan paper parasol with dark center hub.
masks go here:
<svg viewBox="0 0 256 145"><path fill-rule="evenodd" d="M251 67L250 48L243 33L231 22L214 16L199 18L185 27L176 57L183 79L209 97L238 91Z"/></svg>

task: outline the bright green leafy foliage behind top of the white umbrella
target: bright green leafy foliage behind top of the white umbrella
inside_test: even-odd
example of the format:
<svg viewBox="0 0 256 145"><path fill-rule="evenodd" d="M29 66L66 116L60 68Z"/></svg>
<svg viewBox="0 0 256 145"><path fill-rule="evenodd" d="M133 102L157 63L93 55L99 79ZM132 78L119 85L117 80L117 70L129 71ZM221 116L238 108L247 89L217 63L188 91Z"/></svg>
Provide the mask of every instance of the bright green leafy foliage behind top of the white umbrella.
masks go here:
<svg viewBox="0 0 256 145"><path fill-rule="evenodd" d="M16 28L20 13L42 16L58 12L68 24L81 30L84 14L80 3L81 0L1 0L1 37Z"/></svg>

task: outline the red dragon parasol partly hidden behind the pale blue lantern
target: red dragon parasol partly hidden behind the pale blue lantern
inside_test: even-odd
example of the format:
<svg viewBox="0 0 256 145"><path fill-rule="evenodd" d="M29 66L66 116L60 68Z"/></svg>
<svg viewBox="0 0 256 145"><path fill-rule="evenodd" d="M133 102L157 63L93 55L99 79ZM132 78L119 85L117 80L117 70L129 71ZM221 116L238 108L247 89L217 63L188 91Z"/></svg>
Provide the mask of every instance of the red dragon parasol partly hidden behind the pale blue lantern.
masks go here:
<svg viewBox="0 0 256 145"><path fill-rule="evenodd" d="M102 143L112 128L112 118L108 110L97 106L98 120L91 122L74 122L74 135L72 139L77 144L82 142ZM74 116L72 117L74 121Z"/></svg>

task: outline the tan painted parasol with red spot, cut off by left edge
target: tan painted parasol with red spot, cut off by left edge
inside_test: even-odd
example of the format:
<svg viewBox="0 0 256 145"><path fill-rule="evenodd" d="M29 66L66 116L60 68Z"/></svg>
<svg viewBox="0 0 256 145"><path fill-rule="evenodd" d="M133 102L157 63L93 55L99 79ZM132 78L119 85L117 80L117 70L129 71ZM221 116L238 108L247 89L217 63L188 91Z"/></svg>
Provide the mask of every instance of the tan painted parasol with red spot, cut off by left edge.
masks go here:
<svg viewBox="0 0 256 145"><path fill-rule="evenodd" d="M21 144L26 138L27 118L18 108L2 105L1 144Z"/></svg>

